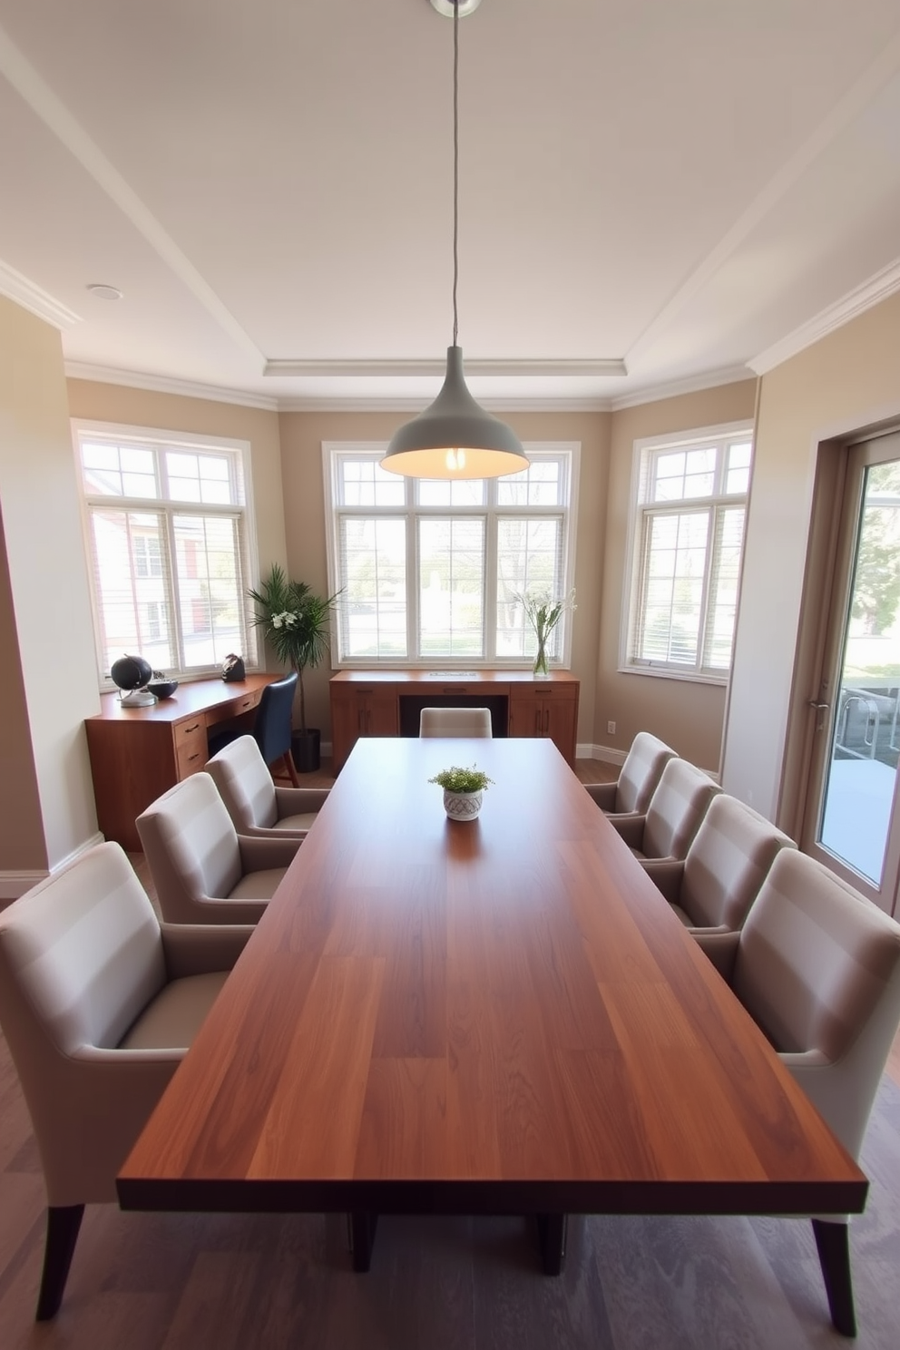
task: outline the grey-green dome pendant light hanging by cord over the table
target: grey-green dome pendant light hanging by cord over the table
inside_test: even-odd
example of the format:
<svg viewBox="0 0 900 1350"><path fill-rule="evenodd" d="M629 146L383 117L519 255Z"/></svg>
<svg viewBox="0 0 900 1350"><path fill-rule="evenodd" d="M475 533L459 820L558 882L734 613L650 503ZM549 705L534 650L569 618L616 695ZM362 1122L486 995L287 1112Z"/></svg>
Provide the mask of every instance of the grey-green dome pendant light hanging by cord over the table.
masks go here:
<svg viewBox="0 0 900 1350"><path fill-rule="evenodd" d="M382 468L407 478L499 478L528 468L528 458L511 427L472 398L463 377L457 346L459 317L459 19L471 0L432 0L440 14L453 15L453 346L447 348L447 375L440 394L393 436Z"/></svg>

